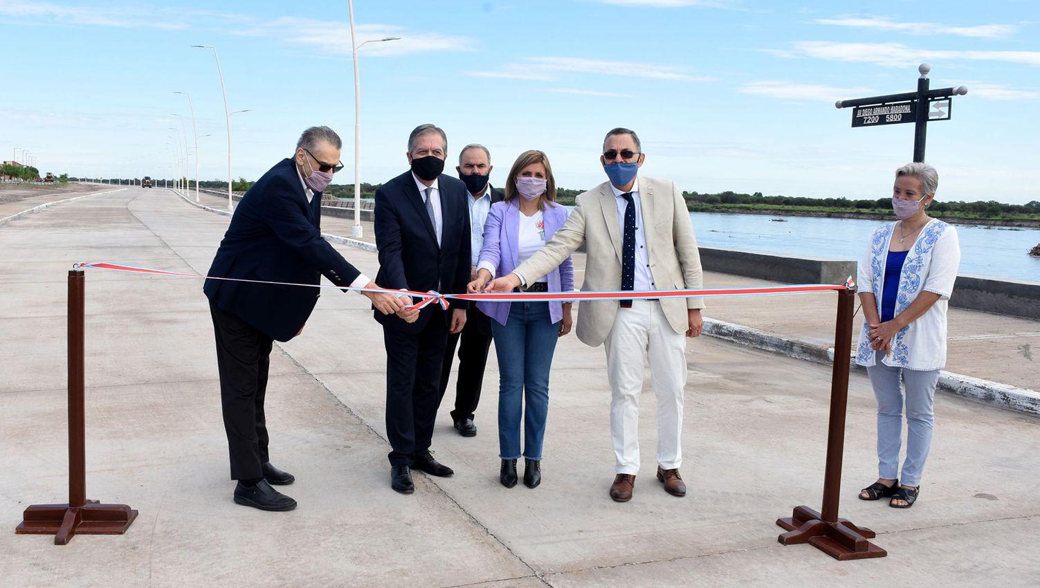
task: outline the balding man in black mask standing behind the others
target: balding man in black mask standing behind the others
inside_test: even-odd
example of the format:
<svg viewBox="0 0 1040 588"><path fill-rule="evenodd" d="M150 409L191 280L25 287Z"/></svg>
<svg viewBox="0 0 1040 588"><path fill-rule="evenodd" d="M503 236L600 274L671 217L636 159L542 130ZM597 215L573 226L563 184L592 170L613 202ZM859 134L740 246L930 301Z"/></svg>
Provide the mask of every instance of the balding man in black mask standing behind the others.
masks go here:
<svg viewBox="0 0 1040 588"><path fill-rule="evenodd" d="M491 153L488 148L470 143L459 153L459 179L466 184L466 204L469 208L470 224L470 282L476 279L476 264L484 246L484 223L488 219L491 205L500 202L504 194L491 187ZM480 401L484 387L484 369L488 365L488 350L491 349L491 319L470 304L466 311L466 326L459 335L449 335L444 349L444 365L441 367L440 400L448 389L451 363L456 346L459 347L459 378L456 383L454 410L451 421L456 430L464 437L476 435L473 424L474 411Z"/></svg>

